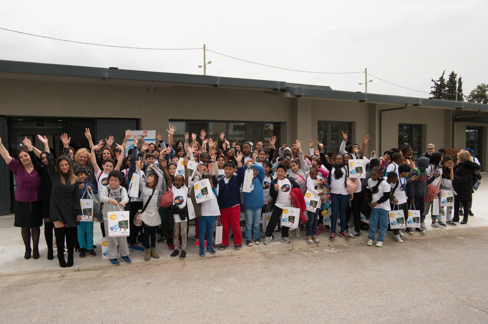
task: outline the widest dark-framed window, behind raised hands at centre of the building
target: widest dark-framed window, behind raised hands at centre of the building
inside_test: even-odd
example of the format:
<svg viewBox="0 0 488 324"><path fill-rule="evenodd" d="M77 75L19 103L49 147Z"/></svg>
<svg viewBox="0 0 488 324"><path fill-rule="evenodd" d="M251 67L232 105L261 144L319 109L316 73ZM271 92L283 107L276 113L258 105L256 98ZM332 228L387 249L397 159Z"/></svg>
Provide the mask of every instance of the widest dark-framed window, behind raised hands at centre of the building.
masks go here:
<svg viewBox="0 0 488 324"><path fill-rule="evenodd" d="M200 140L200 132L204 130L207 138L218 140L220 133L225 133L225 138L232 143L237 142L241 145L244 142L252 142L255 148L258 142L263 142L263 147L267 148L268 143L272 136L276 136L275 146L280 146L280 123L268 123L268 122L225 122L225 121L207 121L207 120L170 120L169 125L176 127L176 132L173 135L173 142L178 140L184 142L184 133L189 134L188 141L191 142L191 134L197 135L198 142Z"/></svg>

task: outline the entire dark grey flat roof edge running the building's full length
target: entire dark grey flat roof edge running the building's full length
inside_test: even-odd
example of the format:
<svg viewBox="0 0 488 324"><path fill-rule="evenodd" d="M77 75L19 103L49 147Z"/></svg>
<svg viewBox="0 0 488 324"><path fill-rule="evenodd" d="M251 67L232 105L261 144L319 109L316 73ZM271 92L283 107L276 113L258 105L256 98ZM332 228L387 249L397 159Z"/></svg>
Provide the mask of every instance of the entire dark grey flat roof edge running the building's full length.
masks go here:
<svg viewBox="0 0 488 324"><path fill-rule="evenodd" d="M97 68L89 66L62 65L50 63L21 62L0 60L0 72L37 74L52 76L92 77L102 80L122 79L138 81L158 81L179 84L197 84L213 87L230 86L254 88L288 93L296 97L311 97L317 99L339 99L348 101L409 104L412 106L429 106L457 110L488 111L488 105L475 102L451 101L406 97L398 95L365 94L360 92L332 90L328 86L287 83L285 81L244 79L223 76L203 76L181 73L151 72L138 70L123 70L117 68Z"/></svg>

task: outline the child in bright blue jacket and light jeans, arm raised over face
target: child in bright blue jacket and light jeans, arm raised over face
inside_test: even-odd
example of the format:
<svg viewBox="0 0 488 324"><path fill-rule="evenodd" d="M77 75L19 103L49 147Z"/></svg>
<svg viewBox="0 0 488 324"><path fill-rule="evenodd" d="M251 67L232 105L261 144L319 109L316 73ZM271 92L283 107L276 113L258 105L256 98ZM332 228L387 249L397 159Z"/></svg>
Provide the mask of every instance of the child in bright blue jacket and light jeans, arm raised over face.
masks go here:
<svg viewBox="0 0 488 324"><path fill-rule="evenodd" d="M254 175L254 189L251 192L244 192L244 220L245 220L245 244L252 245L251 238L254 235L254 242L261 244L259 233L261 210L264 206L263 181L264 168L258 164L252 164L251 160L244 163L244 172L251 168ZM251 231L252 229L252 231Z"/></svg>

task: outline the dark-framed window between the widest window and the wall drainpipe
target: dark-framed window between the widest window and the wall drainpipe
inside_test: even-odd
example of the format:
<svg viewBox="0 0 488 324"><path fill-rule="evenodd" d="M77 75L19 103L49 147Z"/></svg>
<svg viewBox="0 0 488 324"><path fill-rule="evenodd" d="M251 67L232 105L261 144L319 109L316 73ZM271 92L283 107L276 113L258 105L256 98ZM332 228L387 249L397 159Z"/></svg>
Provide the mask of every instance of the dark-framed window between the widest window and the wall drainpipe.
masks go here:
<svg viewBox="0 0 488 324"><path fill-rule="evenodd" d="M324 144L325 153L339 153L339 147L343 141L342 133L347 133L346 148L351 145L352 123L342 121L319 121L318 122L318 140ZM314 145L315 146L315 145Z"/></svg>

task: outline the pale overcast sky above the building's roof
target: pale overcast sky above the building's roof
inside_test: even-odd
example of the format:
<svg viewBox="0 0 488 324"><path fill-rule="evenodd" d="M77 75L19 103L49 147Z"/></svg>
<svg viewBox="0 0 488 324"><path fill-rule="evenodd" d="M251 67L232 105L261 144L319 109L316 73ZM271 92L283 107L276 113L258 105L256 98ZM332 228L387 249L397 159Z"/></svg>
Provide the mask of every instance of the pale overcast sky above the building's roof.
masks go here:
<svg viewBox="0 0 488 324"><path fill-rule="evenodd" d="M488 83L487 0L7 1L0 27L82 42L201 48L315 72L364 72L430 91L455 71L464 94ZM363 74L280 70L207 52L207 74L364 91ZM203 74L203 50L109 48L0 30L0 59ZM368 76L368 92L428 97Z"/></svg>

